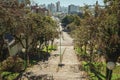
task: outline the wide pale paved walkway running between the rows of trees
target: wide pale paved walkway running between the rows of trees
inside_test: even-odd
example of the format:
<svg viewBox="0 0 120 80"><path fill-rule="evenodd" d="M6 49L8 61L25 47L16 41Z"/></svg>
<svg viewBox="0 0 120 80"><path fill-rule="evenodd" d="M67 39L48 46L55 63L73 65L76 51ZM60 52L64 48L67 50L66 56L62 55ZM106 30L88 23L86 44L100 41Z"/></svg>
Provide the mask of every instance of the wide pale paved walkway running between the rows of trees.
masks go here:
<svg viewBox="0 0 120 80"><path fill-rule="evenodd" d="M61 40L58 39L55 41L58 43L58 50L51 53L51 57L47 62L39 62L38 65L33 66L28 71L35 75L48 74L54 80L87 80L85 79L84 71L80 71L79 69L80 62L75 55L72 38L63 32ZM58 66L60 52L63 55L62 67Z"/></svg>

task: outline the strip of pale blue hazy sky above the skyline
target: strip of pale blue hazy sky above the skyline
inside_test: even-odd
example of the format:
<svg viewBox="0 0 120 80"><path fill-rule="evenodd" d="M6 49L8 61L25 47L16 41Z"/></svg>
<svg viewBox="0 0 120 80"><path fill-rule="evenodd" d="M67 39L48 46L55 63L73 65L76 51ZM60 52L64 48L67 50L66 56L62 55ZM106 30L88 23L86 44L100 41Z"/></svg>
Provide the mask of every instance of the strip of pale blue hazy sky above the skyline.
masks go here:
<svg viewBox="0 0 120 80"><path fill-rule="evenodd" d="M68 6L70 4L80 5L83 6L84 4L92 5L95 4L96 1L100 5L104 5L103 0L31 0L34 1L34 3L38 4L50 4L50 3L56 3L57 1L60 1L61 6Z"/></svg>

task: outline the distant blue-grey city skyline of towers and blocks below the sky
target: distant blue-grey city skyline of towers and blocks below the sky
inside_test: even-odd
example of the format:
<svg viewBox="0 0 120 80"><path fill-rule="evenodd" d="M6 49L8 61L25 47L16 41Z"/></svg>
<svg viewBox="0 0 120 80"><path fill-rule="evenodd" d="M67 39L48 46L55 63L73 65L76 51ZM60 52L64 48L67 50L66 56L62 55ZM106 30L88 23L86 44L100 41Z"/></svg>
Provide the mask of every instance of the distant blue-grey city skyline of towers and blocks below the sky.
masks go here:
<svg viewBox="0 0 120 80"><path fill-rule="evenodd" d="M94 3L95 4L95 3ZM57 1L55 3L49 4L38 4L32 3L32 6L36 6L36 8L47 9L51 15L58 15L58 14L81 14L83 13L83 9L79 5L69 4L68 6L61 6L61 2ZM91 10L93 9L94 5L89 5Z"/></svg>

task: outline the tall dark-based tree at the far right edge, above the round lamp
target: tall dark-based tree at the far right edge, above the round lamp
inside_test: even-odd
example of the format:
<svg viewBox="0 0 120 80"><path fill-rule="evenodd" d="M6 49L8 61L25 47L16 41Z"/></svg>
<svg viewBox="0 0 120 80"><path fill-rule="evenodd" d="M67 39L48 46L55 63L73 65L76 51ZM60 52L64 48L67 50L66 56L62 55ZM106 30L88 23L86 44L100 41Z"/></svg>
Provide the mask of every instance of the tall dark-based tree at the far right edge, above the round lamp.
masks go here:
<svg viewBox="0 0 120 80"><path fill-rule="evenodd" d="M101 42L101 49L105 53L106 63L112 61L117 62L120 56L120 13L119 0L105 0L110 4L106 6L106 13L104 21L99 25L99 39ZM111 80L112 70L106 69L106 80Z"/></svg>

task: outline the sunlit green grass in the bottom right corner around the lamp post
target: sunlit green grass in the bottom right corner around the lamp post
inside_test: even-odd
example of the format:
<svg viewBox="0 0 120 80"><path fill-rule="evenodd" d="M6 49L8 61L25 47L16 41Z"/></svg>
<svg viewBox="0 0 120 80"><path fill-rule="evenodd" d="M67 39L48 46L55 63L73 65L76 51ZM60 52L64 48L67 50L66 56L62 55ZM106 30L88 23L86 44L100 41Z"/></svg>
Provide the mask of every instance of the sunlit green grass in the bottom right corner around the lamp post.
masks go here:
<svg viewBox="0 0 120 80"><path fill-rule="evenodd" d="M98 77L100 77L102 80L105 80L105 73L106 73L106 64L105 63L92 63L96 68L98 68L99 65L102 65L101 68L95 69L95 71L90 70L90 65L82 61L82 65L85 71L88 72L88 75L90 76L89 80L98 80ZM116 66L113 70L112 79L111 80L120 80L120 66Z"/></svg>

